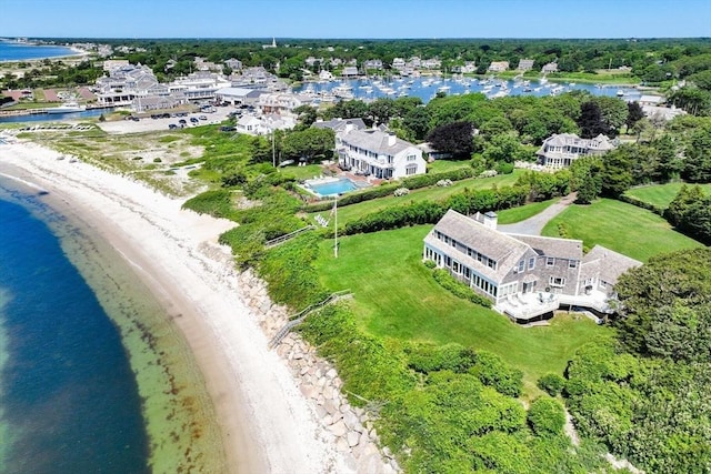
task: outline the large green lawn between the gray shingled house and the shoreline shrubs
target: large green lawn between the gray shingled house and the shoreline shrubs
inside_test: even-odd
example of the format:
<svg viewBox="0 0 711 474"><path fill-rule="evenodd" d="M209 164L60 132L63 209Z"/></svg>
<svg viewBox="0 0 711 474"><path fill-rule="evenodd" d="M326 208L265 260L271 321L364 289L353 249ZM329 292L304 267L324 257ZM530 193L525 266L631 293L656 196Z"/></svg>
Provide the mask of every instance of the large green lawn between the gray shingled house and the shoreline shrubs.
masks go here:
<svg viewBox="0 0 711 474"><path fill-rule="evenodd" d="M452 296L421 262L422 239L431 225L419 225L340 239L321 244L317 269L331 290L350 289L362 327L379 336L438 344L457 342L493 352L524 372L525 393L539 394L535 380L563 373L585 342L609 337L612 330L592 321L557 316L551 326L524 329L505 316Z"/></svg>

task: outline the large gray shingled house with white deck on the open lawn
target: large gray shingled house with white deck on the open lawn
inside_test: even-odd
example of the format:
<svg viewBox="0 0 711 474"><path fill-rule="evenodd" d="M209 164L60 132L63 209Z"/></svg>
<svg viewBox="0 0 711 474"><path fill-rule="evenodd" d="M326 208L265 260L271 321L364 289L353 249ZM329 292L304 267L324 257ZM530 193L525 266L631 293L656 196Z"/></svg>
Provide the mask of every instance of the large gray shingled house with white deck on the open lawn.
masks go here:
<svg viewBox="0 0 711 474"><path fill-rule="evenodd" d="M579 240L500 232L493 212L470 218L453 210L424 238L423 259L520 323L545 319L559 307L609 313L618 278L642 264L599 245L583 255Z"/></svg>

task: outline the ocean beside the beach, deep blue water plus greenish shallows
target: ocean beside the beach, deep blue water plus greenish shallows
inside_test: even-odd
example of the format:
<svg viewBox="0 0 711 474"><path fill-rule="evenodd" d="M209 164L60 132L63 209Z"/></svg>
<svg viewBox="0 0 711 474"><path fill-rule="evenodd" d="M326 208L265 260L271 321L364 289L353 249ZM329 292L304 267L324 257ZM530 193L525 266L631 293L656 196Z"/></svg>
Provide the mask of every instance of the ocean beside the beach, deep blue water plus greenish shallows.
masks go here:
<svg viewBox="0 0 711 474"><path fill-rule="evenodd" d="M171 316L51 198L0 177L0 473L223 471Z"/></svg>

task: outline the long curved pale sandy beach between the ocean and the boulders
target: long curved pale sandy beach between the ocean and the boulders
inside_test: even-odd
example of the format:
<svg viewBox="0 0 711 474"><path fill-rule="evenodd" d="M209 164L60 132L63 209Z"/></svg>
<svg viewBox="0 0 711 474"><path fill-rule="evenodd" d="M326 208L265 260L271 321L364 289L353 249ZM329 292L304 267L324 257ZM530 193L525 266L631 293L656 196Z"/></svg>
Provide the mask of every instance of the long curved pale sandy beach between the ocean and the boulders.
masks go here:
<svg viewBox="0 0 711 474"><path fill-rule="evenodd" d="M213 401L226 472L351 471L243 303L229 249L217 243L234 223L33 143L1 144L0 171L70 205L173 316Z"/></svg>

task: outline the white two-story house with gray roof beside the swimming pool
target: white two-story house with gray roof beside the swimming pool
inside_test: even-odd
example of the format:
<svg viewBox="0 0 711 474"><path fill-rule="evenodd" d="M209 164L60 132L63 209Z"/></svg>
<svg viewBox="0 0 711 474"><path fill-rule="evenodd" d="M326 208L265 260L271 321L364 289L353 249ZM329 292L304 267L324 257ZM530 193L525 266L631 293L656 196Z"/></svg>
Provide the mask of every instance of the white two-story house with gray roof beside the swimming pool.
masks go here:
<svg viewBox="0 0 711 474"><path fill-rule="evenodd" d="M341 169L377 179L398 179L427 171L422 150L378 129L358 130L347 125L336 134L336 151Z"/></svg>

